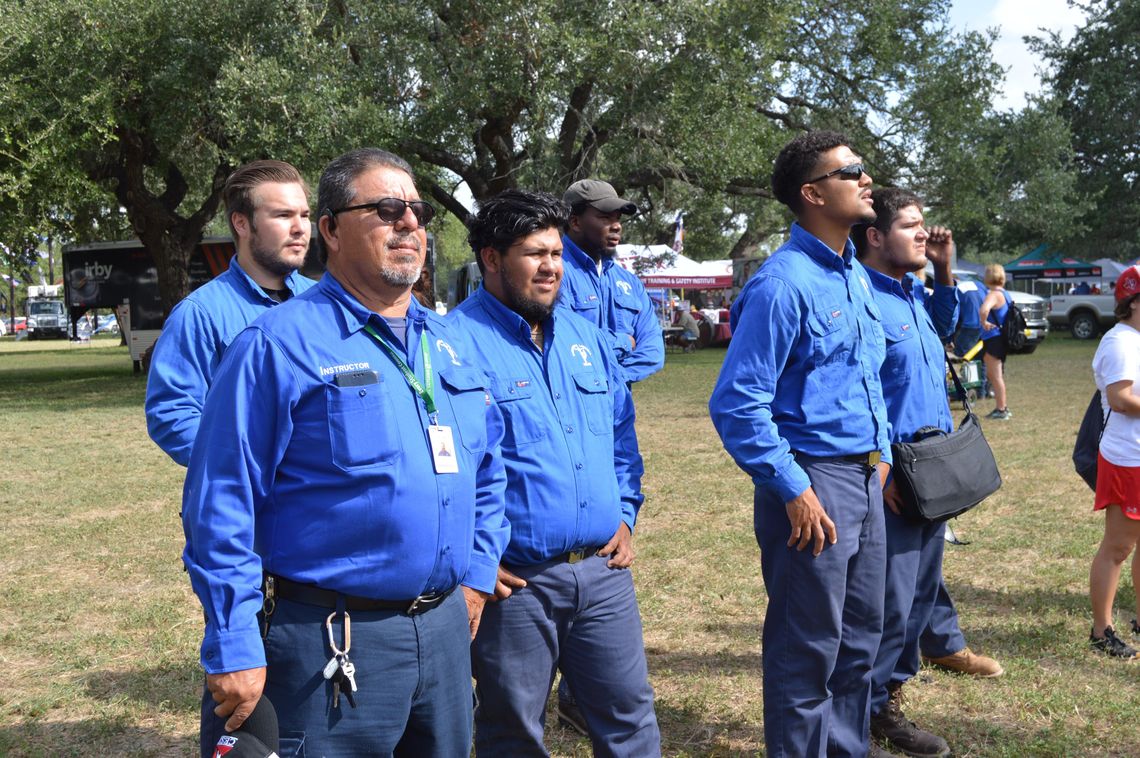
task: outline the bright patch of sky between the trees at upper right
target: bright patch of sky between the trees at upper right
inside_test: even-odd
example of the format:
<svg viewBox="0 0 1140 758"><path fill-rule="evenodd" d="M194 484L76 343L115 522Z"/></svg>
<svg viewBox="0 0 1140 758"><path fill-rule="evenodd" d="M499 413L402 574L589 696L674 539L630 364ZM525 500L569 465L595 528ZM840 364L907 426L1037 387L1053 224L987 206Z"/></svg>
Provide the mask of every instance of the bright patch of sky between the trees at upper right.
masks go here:
<svg viewBox="0 0 1140 758"><path fill-rule="evenodd" d="M999 109L1020 108L1026 93L1041 89L1041 60L1021 38L1037 35L1041 28L1068 38L1082 18L1065 0L953 0L950 10L951 23L959 28L997 27L1001 32L993 46L994 59L1007 70L1004 91L994 103Z"/></svg>

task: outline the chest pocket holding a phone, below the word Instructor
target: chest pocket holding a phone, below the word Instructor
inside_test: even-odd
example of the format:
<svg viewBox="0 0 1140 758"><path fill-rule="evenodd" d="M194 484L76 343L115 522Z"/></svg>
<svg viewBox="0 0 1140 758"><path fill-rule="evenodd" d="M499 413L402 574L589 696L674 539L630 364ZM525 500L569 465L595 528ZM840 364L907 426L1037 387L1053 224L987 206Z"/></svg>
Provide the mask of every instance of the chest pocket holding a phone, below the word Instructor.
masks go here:
<svg viewBox="0 0 1140 758"><path fill-rule="evenodd" d="M333 463L351 470L396 459L400 430L383 377L358 386L326 384L325 401Z"/></svg>

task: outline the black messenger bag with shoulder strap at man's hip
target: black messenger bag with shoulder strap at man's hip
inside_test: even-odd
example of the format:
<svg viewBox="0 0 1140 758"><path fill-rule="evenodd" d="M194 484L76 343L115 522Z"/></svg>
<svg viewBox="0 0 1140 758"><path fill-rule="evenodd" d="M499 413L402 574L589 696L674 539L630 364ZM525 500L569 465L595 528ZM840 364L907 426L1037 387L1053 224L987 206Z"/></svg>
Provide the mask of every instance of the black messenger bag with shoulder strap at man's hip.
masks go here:
<svg viewBox="0 0 1140 758"><path fill-rule="evenodd" d="M891 476L903 500L903 515L918 522L938 522L966 513L1001 487L993 450L982 433L966 389L950 364L966 418L951 433L923 426L912 442L890 446Z"/></svg>

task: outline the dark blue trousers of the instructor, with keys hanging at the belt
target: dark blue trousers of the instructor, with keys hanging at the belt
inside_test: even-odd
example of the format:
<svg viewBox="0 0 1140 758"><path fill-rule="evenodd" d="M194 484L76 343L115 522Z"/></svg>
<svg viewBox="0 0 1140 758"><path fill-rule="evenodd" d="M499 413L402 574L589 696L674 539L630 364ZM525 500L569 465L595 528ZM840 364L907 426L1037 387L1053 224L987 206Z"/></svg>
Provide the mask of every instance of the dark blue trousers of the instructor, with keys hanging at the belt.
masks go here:
<svg viewBox="0 0 1140 758"><path fill-rule="evenodd" d="M463 593L456 589L438 608L414 617L349 611L356 708L343 695L333 708L333 686L321 676L332 658L325 630L329 612L278 598L270 618L264 692L277 710L278 755L470 755L471 635ZM340 643L341 623L333 628Z"/></svg>

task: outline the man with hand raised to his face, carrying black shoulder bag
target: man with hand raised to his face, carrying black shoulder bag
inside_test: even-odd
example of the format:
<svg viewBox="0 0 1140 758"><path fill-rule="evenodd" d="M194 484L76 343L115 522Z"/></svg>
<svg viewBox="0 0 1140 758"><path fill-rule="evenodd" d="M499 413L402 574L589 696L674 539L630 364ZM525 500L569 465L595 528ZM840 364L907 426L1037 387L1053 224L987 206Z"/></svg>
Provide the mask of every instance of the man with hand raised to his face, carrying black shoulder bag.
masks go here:
<svg viewBox="0 0 1140 758"><path fill-rule="evenodd" d="M926 229L917 195L887 188L874 190L872 199L874 221L855 227L852 239L882 312L887 358L880 376L890 441L911 442L922 429L954 430L943 348L958 320L959 291L950 271L954 242L950 229ZM933 296L919 278L927 261L934 263ZM985 663L990 676L1001 674L1001 667L970 653L959 630L958 613L942 580L945 524L906 519L893 481L882 499L887 506L887 584L882 642L872 671L871 734L907 756L940 758L950 755L946 741L915 726L902 710L903 685L918 674L920 635L936 610L950 617L950 623L939 622L939 628L948 626L961 639L952 651L962 651L963 660L972 657L978 667Z"/></svg>

